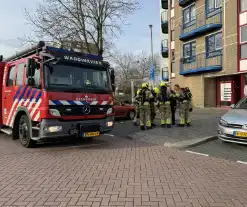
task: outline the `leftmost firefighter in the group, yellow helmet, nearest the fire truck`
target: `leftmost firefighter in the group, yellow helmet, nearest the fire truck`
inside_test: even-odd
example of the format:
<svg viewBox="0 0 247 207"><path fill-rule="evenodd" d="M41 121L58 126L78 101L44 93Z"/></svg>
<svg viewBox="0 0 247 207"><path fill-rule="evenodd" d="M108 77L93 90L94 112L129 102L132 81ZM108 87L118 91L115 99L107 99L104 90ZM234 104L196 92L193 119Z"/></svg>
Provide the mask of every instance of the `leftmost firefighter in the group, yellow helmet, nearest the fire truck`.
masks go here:
<svg viewBox="0 0 247 207"><path fill-rule="evenodd" d="M143 83L142 89L136 97L136 100L140 102L139 110L140 110L140 127L141 127L141 130L151 129L150 100L152 100L152 99L153 99L153 95L148 88L148 84Z"/></svg>

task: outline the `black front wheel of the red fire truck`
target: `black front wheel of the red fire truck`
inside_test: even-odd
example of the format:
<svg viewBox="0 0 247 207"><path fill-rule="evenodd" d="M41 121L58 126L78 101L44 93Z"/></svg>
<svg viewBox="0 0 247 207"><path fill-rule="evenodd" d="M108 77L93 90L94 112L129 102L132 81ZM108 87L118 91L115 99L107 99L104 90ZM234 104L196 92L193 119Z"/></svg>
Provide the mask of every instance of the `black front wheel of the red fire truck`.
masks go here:
<svg viewBox="0 0 247 207"><path fill-rule="evenodd" d="M18 133L19 133L19 139L21 141L21 144L24 147L30 148L34 146L34 141L31 139L31 136L30 136L29 120L26 115L22 115L20 117L19 124L18 124Z"/></svg>

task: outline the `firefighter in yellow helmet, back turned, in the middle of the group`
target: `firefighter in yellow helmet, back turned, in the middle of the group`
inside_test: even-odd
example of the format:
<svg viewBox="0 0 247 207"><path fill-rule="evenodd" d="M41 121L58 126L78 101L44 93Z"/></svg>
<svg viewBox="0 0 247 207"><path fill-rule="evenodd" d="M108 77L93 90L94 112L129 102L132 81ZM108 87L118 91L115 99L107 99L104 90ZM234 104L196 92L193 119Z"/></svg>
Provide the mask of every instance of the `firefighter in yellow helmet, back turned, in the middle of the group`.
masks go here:
<svg viewBox="0 0 247 207"><path fill-rule="evenodd" d="M160 83L159 102L160 102L160 124L162 128L171 128L171 92L165 82Z"/></svg>

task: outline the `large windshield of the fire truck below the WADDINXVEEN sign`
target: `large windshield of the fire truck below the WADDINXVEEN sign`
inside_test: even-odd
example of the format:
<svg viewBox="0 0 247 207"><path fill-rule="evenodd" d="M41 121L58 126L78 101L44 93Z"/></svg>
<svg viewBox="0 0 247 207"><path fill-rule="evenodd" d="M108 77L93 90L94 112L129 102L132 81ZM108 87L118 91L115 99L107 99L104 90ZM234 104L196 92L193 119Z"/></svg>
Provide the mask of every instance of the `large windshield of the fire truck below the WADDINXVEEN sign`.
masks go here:
<svg viewBox="0 0 247 207"><path fill-rule="evenodd" d="M109 74L104 67L80 67L59 62L46 64L44 68L48 90L93 93L111 91Z"/></svg>

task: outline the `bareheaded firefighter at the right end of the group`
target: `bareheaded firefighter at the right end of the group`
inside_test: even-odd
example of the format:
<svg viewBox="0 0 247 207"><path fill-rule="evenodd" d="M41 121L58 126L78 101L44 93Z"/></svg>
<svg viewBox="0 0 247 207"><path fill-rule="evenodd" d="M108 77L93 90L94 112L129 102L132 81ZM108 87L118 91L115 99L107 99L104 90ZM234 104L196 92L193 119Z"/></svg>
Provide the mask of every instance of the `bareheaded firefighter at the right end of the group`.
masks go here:
<svg viewBox="0 0 247 207"><path fill-rule="evenodd" d="M176 91L176 97L178 99L178 106L179 106L178 126L181 127L184 127L185 125L190 126L191 120L189 117L189 112L192 111L192 107L191 107L192 94L188 87L182 89L178 84L174 85L174 90Z"/></svg>

